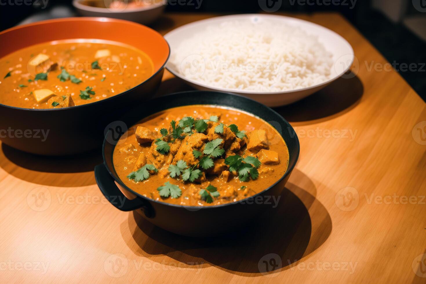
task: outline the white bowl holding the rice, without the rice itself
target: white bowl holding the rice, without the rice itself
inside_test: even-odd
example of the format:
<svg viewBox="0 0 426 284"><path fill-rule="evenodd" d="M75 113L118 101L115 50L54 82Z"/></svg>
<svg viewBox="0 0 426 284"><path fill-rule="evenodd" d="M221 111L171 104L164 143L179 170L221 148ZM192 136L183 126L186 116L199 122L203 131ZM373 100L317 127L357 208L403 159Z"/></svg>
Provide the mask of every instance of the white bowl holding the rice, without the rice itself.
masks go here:
<svg viewBox="0 0 426 284"><path fill-rule="evenodd" d="M272 23L284 23L289 26L297 26L307 34L312 34L317 36L318 41L324 45L325 49L328 52L331 52L333 55L332 59L334 65L331 67L331 76L330 79L308 87L304 89L295 89L286 92L250 92L236 89L224 89L218 87L208 86L204 83L197 82L192 78L186 77L182 75L176 69L170 61L167 63L166 68L176 77L181 78L190 86L193 86L199 90L214 90L214 91L222 91L222 92L233 92L239 95L246 96L248 98L252 98L257 100L260 103L263 103L267 106L284 106L290 103L294 103L297 100L301 100L302 98L307 97L308 95L312 95L314 92L319 91L324 88L343 74L348 71L348 69L352 66L354 62L354 50L351 45L339 34L327 29L323 26L317 25L315 23L311 23L305 20L300 20L292 17L278 16L278 15L270 15L270 14L239 14L239 15L230 15L230 16L222 16L222 17L214 17L206 20L200 20L197 22L189 23L187 25L181 26L173 31L167 33L164 38L170 45L170 49L173 56L173 50L188 36L200 32L203 29L206 29L207 26L219 25L222 22L227 22L231 20L251 20L251 21L262 21L268 20Z"/></svg>

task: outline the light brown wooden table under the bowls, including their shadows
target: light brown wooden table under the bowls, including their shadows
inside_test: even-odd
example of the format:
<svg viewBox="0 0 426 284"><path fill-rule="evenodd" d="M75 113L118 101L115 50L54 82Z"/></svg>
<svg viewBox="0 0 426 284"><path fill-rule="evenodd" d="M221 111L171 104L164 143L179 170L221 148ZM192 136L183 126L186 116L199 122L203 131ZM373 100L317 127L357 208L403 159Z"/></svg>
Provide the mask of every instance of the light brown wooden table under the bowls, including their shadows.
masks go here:
<svg viewBox="0 0 426 284"><path fill-rule="evenodd" d="M154 28L212 16L166 14ZM369 69L387 62L342 16L296 17L345 37L357 74L278 109L301 155L262 225L173 235L107 203L93 176L99 153L37 158L2 145L2 282L425 283L426 105L397 72ZM161 93L185 89L166 73Z"/></svg>

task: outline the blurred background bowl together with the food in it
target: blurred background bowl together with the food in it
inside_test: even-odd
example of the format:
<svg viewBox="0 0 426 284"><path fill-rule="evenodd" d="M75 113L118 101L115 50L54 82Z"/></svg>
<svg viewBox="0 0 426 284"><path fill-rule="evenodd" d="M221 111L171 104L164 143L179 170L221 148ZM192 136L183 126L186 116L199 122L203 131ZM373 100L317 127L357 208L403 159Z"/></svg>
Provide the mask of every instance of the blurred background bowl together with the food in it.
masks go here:
<svg viewBox="0 0 426 284"><path fill-rule="evenodd" d="M164 11L162 0L73 0L72 5L84 17L109 17L149 24Z"/></svg>

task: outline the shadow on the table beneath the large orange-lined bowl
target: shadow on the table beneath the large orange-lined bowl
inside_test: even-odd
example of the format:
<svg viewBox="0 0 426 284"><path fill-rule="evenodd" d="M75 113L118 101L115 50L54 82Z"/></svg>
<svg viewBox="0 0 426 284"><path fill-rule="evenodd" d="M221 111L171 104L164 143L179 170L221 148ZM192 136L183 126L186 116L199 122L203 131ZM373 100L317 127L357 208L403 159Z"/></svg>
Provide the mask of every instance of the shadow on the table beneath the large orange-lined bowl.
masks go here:
<svg viewBox="0 0 426 284"><path fill-rule="evenodd" d="M102 163L101 149L65 157L33 155L3 143L0 150L2 169L21 180L47 186L71 187L95 184L93 169Z"/></svg>

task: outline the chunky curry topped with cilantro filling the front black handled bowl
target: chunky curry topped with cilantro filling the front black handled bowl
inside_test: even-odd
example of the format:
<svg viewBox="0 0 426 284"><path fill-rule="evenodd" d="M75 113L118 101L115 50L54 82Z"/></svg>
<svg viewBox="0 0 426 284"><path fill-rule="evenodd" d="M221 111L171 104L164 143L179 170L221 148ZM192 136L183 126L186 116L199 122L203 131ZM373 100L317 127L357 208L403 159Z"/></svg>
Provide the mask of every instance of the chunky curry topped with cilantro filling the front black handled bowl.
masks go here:
<svg viewBox="0 0 426 284"><path fill-rule="evenodd" d="M150 116L115 146L115 171L131 189L186 206L226 204L284 175L288 149L269 123L217 106L183 106Z"/></svg>

